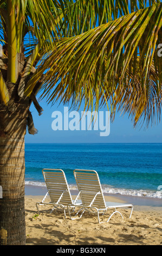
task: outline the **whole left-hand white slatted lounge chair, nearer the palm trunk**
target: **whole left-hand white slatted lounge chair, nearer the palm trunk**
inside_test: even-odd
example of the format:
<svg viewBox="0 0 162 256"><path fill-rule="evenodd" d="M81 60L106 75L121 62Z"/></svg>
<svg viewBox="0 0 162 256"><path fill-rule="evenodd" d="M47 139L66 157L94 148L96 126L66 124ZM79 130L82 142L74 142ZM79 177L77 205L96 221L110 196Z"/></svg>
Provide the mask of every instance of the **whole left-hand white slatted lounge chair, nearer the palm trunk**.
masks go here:
<svg viewBox="0 0 162 256"><path fill-rule="evenodd" d="M62 208L64 211L64 217L66 218L66 209L68 204L73 204L72 196L70 194L69 186L67 183L66 175L61 169L43 169L42 174L46 182L48 192L44 196L41 202L36 203L38 214L40 211L38 205L53 205L53 209ZM51 202L46 203L47 196L49 194Z"/></svg>

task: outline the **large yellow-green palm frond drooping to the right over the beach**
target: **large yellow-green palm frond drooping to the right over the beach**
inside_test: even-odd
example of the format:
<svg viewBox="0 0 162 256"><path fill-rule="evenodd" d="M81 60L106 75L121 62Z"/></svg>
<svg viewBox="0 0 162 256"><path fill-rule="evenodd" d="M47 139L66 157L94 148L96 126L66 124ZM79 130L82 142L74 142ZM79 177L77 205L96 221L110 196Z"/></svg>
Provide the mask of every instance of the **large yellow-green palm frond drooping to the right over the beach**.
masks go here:
<svg viewBox="0 0 162 256"><path fill-rule="evenodd" d="M150 120L161 107L161 74L157 44L161 32L162 4L140 9L88 32L61 39L50 49L34 77L46 73L42 96L48 102L81 102L99 106L111 101L136 124L144 114ZM95 102L95 103L94 103Z"/></svg>

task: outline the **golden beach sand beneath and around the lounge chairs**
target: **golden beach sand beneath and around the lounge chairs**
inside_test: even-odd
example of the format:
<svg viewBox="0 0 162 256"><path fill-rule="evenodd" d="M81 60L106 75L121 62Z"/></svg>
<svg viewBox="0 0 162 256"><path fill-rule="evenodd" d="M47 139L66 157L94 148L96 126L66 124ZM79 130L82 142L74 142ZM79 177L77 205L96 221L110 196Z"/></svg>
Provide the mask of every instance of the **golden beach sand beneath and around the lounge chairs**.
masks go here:
<svg viewBox="0 0 162 256"><path fill-rule="evenodd" d="M98 223L97 217L84 214L79 220L64 219L63 211L53 211L51 206L40 206L37 215L36 202L43 198L40 192L25 194L26 245L57 246L103 246L103 245L162 245L162 204L161 199L145 197L126 197L105 195L111 202L131 203L134 205L132 217L130 209L121 209L124 220L114 214L108 223ZM37 191L37 190L35 190ZM45 192L46 190L42 190ZM73 191L75 197L76 191ZM107 211L103 220L112 211Z"/></svg>

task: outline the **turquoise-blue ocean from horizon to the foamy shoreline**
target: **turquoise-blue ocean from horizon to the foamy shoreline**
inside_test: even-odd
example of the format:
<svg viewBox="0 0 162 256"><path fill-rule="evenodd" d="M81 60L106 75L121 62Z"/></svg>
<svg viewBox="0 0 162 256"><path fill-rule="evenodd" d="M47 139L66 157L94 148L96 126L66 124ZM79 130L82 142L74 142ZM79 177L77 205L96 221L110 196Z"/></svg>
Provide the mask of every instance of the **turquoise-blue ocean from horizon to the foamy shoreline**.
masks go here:
<svg viewBox="0 0 162 256"><path fill-rule="evenodd" d="M76 189L74 169L93 169L103 192L162 198L162 144L25 144L25 184L46 186L42 169L63 169Z"/></svg>

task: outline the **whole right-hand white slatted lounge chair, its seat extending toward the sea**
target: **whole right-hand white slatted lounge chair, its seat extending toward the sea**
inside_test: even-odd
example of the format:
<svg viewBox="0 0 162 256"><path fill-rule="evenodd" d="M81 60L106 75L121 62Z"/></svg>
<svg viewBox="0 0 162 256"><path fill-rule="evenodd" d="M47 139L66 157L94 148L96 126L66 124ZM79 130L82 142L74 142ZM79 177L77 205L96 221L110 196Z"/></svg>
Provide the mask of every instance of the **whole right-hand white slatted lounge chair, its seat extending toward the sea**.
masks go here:
<svg viewBox="0 0 162 256"><path fill-rule="evenodd" d="M105 198L103 196L99 175L95 170L82 170L75 169L74 176L76 180L77 187L79 189L79 196L81 197L82 204L79 205L81 208L74 217L72 217L70 213L70 208L74 206L78 206L75 203L68 205L69 215L71 220L75 220L76 218L81 218L85 211L96 214L98 216L98 222L100 222L99 214L105 214L108 209L114 209L115 211L111 214L106 222L108 222L111 217L115 213L121 213L117 211L117 208L131 208L131 214L129 218L132 216L133 205L132 204L122 204L122 203L113 203L113 202L105 202ZM75 202L77 202L77 198ZM81 212L81 216L77 217L77 215ZM122 215L121 215L122 217ZM123 218L123 217L122 217Z"/></svg>

